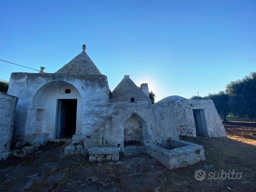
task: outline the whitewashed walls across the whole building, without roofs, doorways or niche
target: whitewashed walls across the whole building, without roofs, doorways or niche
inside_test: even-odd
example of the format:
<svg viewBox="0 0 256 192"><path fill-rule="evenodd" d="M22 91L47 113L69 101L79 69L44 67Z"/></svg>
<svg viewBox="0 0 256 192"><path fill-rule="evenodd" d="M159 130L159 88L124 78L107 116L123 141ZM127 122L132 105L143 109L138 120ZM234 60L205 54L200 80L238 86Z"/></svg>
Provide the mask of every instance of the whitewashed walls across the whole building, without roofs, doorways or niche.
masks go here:
<svg viewBox="0 0 256 192"><path fill-rule="evenodd" d="M193 109L205 110L210 137L226 136L211 100L151 104L149 99L135 99L135 102L130 97L109 99L107 77L91 74L60 75L61 92L65 88L72 90L71 94L61 95L58 87L47 86L47 79L52 75L12 73L8 93L19 97L14 138L31 141L36 146L54 139L56 99L77 99L77 129L72 144L84 142L84 150L116 146L123 151L125 122L133 114L141 119L144 144L179 139L178 135L196 136Z"/></svg>

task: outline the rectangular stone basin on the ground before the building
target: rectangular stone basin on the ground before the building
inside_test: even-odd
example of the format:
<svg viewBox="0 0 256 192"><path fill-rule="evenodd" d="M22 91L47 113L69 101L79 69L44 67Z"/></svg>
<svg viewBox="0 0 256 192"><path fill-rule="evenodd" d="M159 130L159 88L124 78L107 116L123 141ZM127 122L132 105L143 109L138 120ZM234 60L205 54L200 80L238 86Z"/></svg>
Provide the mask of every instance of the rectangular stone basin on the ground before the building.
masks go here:
<svg viewBox="0 0 256 192"><path fill-rule="evenodd" d="M149 155L170 170L205 160L203 146L178 139L167 139L160 145L147 143L146 148Z"/></svg>

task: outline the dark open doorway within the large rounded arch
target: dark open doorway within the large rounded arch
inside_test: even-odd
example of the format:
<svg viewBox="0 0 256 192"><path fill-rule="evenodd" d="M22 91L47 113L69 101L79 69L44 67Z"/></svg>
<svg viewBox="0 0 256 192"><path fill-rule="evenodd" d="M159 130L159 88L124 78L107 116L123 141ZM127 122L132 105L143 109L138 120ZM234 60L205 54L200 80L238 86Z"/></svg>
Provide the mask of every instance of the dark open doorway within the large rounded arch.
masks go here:
<svg viewBox="0 0 256 192"><path fill-rule="evenodd" d="M55 138L72 137L76 133L76 123L77 99L58 99Z"/></svg>

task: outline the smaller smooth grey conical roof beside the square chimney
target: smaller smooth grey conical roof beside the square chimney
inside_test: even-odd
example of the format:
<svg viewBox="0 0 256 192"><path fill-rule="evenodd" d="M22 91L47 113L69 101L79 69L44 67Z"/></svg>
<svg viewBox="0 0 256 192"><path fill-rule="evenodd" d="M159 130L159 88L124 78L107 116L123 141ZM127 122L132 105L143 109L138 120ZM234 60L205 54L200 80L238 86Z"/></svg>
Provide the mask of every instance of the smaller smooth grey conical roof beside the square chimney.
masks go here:
<svg viewBox="0 0 256 192"><path fill-rule="evenodd" d="M149 97L140 90L130 79L129 75L125 75L122 81L113 90L112 99L130 100L130 98L149 100Z"/></svg>

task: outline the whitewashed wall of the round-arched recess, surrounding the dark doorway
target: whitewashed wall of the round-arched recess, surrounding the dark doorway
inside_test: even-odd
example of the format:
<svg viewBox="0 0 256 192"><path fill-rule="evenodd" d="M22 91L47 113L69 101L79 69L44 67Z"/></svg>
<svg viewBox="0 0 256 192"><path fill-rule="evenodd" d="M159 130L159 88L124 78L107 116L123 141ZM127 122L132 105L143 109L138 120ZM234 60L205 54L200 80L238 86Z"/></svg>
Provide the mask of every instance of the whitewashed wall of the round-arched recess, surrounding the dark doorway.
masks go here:
<svg viewBox="0 0 256 192"><path fill-rule="evenodd" d="M79 91L72 84L65 81L51 82L42 86L35 94L28 111L25 135L49 133L50 137L57 138L60 111L63 104L76 104L75 133L80 133L83 124L83 104ZM75 109L75 107L73 106ZM66 110L66 109L62 109ZM63 112L63 111L62 111Z"/></svg>

